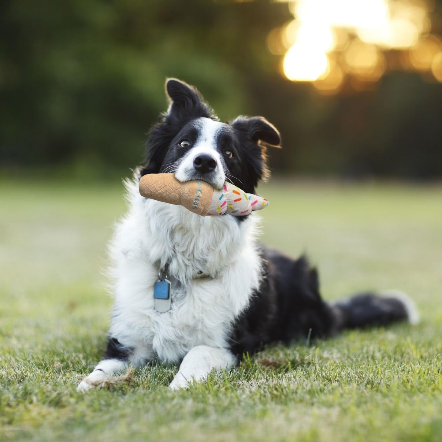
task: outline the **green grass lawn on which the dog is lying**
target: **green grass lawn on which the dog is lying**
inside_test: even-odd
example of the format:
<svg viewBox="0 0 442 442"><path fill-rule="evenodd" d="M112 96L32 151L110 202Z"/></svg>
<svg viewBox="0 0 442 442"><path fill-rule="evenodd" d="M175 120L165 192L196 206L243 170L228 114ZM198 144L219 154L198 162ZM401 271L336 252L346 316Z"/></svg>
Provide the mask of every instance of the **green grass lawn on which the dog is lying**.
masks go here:
<svg viewBox="0 0 442 442"><path fill-rule="evenodd" d="M152 364L78 394L106 341L101 271L121 187L4 182L0 440L441 440L442 188L275 181L261 193L264 242L308 251L326 299L400 288L422 322L268 348L187 391L167 389L177 367Z"/></svg>

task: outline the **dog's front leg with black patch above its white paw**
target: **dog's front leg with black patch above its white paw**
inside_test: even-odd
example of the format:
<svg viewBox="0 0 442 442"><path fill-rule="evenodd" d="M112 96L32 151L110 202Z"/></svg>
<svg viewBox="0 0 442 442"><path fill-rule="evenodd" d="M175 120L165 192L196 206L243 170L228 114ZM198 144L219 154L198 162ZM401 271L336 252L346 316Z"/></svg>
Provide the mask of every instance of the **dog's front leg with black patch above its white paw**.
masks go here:
<svg viewBox="0 0 442 442"><path fill-rule="evenodd" d="M149 358L149 349L141 346L125 346L118 339L110 338L103 360L95 366L91 374L80 382L77 391L86 392L114 376L115 373L125 370L130 362L135 366L140 366Z"/></svg>

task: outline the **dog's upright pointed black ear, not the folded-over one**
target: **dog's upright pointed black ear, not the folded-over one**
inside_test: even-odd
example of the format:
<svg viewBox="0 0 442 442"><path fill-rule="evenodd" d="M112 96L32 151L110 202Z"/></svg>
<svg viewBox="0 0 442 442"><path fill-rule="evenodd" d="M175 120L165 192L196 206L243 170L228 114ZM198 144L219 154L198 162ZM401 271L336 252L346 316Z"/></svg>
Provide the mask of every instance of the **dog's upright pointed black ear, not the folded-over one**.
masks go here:
<svg viewBox="0 0 442 442"><path fill-rule="evenodd" d="M179 119L213 118L213 111L204 102L196 88L176 78L166 80L166 94L169 100L168 115Z"/></svg>

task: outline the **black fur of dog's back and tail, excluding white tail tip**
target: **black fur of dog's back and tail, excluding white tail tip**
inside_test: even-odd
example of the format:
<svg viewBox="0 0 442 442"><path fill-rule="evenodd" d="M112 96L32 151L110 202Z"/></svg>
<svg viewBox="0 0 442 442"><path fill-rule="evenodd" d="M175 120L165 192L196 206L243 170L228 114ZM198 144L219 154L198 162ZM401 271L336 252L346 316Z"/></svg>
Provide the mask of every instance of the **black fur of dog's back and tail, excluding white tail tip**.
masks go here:
<svg viewBox="0 0 442 442"><path fill-rule="evenodd" d="M320 296L319 278L305 256L291 259L263 248L264 278L248 309L238 318L231 349L239 357L264 344L330 337L343 329L411 320L397 296L367 292L334 305Z"/></svg>

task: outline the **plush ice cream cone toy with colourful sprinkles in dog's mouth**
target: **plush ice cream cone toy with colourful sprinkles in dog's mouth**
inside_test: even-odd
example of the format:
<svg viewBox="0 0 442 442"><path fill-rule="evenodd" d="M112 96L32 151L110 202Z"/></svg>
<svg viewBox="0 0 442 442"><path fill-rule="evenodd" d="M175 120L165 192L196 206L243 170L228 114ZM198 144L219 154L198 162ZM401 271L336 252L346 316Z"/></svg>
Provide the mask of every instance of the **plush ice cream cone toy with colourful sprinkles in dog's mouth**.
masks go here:
<svg viewBox="0 0 442 442"><path fill-rule="evenodd" d="M269 205L267 199L245 193L231 183L214 189L200 180L180 183L172 173L144 175L140 179L139 189L145 198L183 206L202 217L224 213L244 216Z"/></svg>

